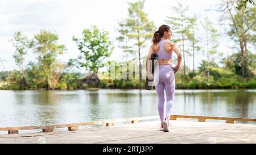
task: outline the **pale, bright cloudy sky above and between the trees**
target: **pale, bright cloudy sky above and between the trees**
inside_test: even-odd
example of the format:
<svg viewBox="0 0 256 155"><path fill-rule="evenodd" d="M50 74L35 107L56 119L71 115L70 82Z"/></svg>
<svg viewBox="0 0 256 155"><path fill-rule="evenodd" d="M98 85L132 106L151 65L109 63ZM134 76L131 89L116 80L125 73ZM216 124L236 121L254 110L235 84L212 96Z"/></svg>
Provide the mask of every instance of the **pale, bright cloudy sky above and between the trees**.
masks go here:
<svg viewBox="0 0 256 155"><path fill-rule="evenodd" d="M114 51L109 60L122 60L123 52L118 48L119 42L115 40L119 34L115 31L118 27L118 20L127 18L128 4L135 2L129 0L91 0L91 1L60 1L60 0L0 0L0 58L5 60L4 67L0 64L0 71L18 69L15 65L10 40L14 33L21 31L24 36L32 38L42 29L51 30L59 34L59 44L64 44L67 48L64 55L58 57L59 61L67 62L69 58L76 58L79 50L72 36L81 37L81 32L85 28L96 25L102 30L109 32L110 40L113 41ZM144 11L150 21L154 21L158 28L166 24L166 17L173 15L171 6L175 6L177 1L172 0L146 0ZM232 52L228 48L232 45L229 37L224 34L224 28L218 26L218 12L207 11L213 9L216 1L211 0L183 0L189 6L189 15L196 15L197 20L203 20L208 16L216 28L223 35L220 36L220 51ZM157 30L155 30L157 31ZM175 34L173 34L175 37ZM204 33L197 30L199 37ZM147 41L148 48L142 50L142 55L147 55L151 40ZM199 66L200 60L206 58L204 53L196 51L196 66ZM29 60L35 60L35 55L28 52L26 63ZM192 60L187 60L192 68Z"/></svg>

